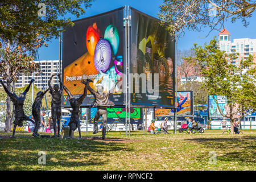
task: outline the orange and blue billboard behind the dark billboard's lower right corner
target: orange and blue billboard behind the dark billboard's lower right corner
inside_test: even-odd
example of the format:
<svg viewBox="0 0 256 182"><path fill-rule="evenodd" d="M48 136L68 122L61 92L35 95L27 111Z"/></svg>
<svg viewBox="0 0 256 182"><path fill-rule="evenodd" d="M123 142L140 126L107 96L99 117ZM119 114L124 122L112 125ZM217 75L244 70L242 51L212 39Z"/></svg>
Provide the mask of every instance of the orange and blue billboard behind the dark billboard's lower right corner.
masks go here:
<svg viewBox="0 0 256 182"><path fill-rule="evenodd" d="M177 92L177 115L193 114L193 92ZM155 109L155 117L170 117L174 115L174 109Z"/></svg>

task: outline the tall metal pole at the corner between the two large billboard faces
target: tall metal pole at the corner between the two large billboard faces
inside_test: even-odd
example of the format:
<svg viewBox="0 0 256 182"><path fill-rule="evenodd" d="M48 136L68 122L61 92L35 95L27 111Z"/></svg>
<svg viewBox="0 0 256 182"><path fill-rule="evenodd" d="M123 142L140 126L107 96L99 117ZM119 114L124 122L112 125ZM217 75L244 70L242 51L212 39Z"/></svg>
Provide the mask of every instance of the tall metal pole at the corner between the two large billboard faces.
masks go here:
<svg viewBox="0 0 256 182"><path fill-rule="evenodd" d="M127 137L127 7L125 6L125 136Z"/></svg>

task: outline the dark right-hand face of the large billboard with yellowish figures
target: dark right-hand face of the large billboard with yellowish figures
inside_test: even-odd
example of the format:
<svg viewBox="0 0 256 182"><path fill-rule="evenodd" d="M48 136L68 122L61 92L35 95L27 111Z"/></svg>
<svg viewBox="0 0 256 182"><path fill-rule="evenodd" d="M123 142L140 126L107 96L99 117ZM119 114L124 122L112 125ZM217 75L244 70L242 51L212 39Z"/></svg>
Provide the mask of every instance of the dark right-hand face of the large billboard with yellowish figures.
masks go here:
<svg viewBox="0 0 256 182"><path fill-rule="evenodd" d="M134 78L131 104L175 107L175 40L158 19L131 9L130 73L141 78L139 92ZM146 92L143 93L147 83ZM157 84L157 85L156 85ZM158 93L152 93L158 86ZM150 89L149 89L149 88Z"/></svg>

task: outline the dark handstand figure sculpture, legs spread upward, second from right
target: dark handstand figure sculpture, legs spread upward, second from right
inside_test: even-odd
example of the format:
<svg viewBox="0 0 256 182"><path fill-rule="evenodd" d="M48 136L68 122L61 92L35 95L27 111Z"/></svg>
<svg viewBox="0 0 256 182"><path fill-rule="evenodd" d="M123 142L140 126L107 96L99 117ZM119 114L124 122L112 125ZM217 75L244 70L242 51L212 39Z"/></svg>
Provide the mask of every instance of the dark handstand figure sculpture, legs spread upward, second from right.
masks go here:
<svg viewBox="0 0 256 182"><path fill-rule="evenodd" d="M73 97L71 92L67 89L67 87L63 85L63 82L61 80L59 81L60 81L60 85L63 86L64 90L68 93L69 102L72 107L71 118L68 123L69 138L71 138L72 130L75 131L77 128L79 130L79 138L81 138L81 129L80 129L80 121L79 121L80 105L82 104L82 101L84 101L84 98L87 94L89 83L93 81L90 79L87 79L86 81L85 80L81 81L82 84L85 85L85 87L84 87L84 93L79 98Z"/></svg>

